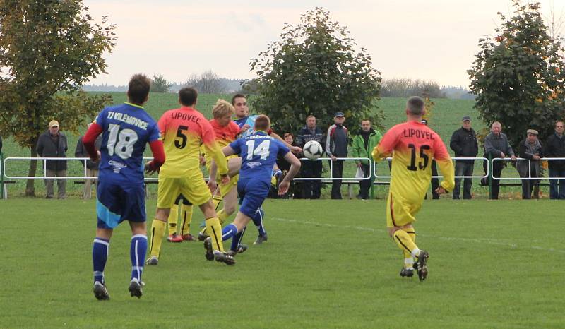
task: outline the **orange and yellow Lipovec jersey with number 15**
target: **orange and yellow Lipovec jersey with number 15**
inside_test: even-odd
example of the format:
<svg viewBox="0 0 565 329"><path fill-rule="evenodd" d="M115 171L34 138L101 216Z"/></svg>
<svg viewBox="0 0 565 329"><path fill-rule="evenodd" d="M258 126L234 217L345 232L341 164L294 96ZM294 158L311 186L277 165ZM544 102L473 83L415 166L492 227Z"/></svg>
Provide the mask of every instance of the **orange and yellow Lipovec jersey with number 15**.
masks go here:
<svg viewBox="0 0 565 329"><path fill-rule="evenodd" d="M390 192L408 203L421 203L432 177L432 159L444 176L446 191L455 186L453 162L439 135L417 121L397 124L387 131L372 152L375 161L392 155Z"/></svg>

